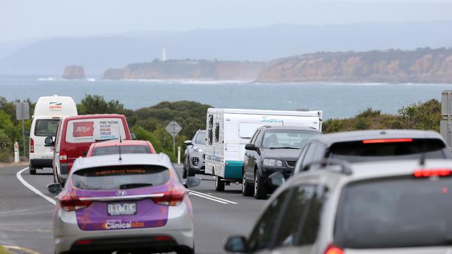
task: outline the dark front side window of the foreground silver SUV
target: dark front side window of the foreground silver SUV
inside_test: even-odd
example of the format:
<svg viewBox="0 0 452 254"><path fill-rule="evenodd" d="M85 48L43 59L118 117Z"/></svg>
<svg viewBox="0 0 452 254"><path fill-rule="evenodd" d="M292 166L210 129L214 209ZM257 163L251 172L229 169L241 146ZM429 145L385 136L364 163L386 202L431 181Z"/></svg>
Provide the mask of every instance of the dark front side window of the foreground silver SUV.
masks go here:
<svg viewBox="0 0 452 254"><path fill-rule="evenodd" d="M262 248L271 247L273 234L278 226L278 221L288 194L289 189L282 192L273 200L271 205L267 207L264 214L262 214L261 219L259 219L250 235L249 244L251 250L256 251Z"/></svg>

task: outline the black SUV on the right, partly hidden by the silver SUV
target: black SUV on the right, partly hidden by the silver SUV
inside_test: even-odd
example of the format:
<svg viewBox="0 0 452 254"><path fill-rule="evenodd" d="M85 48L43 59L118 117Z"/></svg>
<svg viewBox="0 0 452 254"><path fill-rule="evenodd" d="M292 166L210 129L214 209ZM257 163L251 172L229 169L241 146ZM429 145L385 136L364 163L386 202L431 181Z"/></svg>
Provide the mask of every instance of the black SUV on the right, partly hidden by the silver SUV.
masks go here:
<svg viewBox="0 0 452 254"><path fill-rule="evenodd" d="M358 130L317 136L305 144L294 173L325 158L350 163L380 160L449 159L441 135L426 130Z"/></svg>

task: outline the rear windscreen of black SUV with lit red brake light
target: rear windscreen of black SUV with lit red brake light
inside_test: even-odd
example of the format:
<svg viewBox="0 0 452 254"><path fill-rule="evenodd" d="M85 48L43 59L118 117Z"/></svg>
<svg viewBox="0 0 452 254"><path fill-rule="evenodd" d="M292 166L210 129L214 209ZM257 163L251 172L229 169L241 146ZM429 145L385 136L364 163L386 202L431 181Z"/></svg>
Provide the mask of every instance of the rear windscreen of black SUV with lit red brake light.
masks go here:
<svg viewBox="0 0 452 254"><path fill-rule="evenodd" d="M446 158L443 151L445 147L441 139L373 139L333 144L328 157L348 162L409 160L419 159L421 155L424 158L442 159Z"/></svg>

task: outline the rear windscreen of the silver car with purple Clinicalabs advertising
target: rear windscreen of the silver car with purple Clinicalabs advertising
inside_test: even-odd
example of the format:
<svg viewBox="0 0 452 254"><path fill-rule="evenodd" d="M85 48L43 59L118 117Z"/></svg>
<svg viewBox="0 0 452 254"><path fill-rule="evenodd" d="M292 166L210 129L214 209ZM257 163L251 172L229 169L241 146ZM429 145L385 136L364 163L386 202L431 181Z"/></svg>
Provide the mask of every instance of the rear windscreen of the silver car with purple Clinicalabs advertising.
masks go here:
<svg viewBox="0 0 452 254"><path fill-rule="evenodd" d="M72 184L79 189L134 189L163 185L170 179L166 167L136 165L81 169L72 175Z"/></svg>

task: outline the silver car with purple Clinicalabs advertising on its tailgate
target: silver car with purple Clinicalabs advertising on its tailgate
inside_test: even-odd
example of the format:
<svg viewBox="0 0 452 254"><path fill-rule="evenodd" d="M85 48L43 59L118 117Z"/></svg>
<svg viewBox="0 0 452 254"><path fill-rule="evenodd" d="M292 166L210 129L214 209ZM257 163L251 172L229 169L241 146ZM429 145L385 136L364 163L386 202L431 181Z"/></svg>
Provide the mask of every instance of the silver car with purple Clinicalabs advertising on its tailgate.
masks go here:
<svg viewBox="0 0 452 254"><path fill-rule="evenodd" d="M123 154L74 162L54 211L55 253L194 253L193 208L164 154Z"/></svg>

